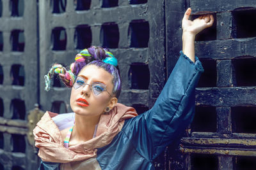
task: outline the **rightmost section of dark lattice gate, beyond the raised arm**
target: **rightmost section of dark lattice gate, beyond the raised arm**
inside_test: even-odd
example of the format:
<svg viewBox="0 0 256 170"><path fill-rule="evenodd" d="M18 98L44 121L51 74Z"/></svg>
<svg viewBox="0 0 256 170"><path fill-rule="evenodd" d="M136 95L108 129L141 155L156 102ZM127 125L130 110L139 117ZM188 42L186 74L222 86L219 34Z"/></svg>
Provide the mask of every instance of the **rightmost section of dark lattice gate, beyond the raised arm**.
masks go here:
<svg viewBox="0 0 256 170"><path fill-rule="evenodd" d="M181 139L180 151L189 153L182 168L255 169L255 3L188 4L193 17L197 10L208 11L215 23L196 37L196 55L205 72L196 88L190 137Z"/></svg>

